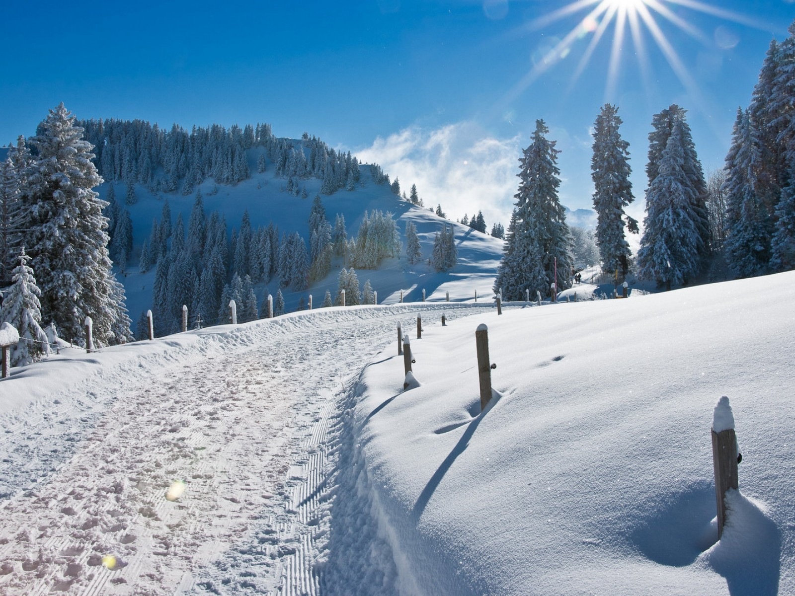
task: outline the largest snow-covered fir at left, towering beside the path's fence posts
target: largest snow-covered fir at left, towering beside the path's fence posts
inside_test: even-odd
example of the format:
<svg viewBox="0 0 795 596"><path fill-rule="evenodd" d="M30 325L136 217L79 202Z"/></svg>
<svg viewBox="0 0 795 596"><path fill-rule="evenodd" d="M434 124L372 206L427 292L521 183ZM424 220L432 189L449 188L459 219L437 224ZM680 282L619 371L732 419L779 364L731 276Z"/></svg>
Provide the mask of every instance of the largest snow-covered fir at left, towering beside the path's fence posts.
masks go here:
<svg viewBox="0 0 795 596"><path fill-rule="evenodd" d="M61 103L50 110L31 139L38 150L21 199L31 215L25 247L41 284L41 308L66 337L83 337L83 320L94 321L96 346L117 341L114 323L124 310L107 252L105 202L93 190L102 179L83 129ZM129 318L128 318L129 320ZM124 335L130 335L129 329Z"/></svg>

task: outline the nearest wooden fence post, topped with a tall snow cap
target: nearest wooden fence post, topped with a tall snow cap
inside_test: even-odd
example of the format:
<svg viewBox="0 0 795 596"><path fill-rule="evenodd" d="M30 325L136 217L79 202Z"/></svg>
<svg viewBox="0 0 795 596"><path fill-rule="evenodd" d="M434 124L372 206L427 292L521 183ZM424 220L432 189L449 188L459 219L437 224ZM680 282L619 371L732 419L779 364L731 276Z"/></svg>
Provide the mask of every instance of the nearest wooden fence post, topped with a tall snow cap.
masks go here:
<svg viewBox="0 0 795 596"><path fill-rule="evenodd" d="M715 470L715 501L718 508L718 540L726 524L726 491L737 490L737 464L743 459L737 449L735 416L729 398L723 396L712 414L712 467Z"/></svg>

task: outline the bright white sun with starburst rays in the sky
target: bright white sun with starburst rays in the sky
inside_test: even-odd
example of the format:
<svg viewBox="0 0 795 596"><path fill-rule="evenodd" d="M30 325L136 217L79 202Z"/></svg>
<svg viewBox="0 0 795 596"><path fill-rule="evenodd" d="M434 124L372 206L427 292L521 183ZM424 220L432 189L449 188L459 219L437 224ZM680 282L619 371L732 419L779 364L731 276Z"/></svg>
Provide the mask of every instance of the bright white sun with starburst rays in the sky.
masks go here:
<svg viewBox="0 0 795 596"><path fill-rule="evenodd" d="M678 7L679 10L672 10L672 5ZM708 45L711 36L704 34L693 25L692 19L688 21L681 17L679 13L682 10L709 14L723 20L764 29L764 25L750 17L724 10L718 6L711 6L703 0L574 0L529 24L529 29L541 29L555 21L586 12L585 16L580 17L580 21L563 39L557 41L552 48L547 49L540 59L535 60L533 68L518 82L510 95L516 96L520 94L534 80L560 63L561 60L567 58L576 44L587 42L580 56L580 61L572 74L573 85L588 66L588 62L599 45L599 41L603 37L608 37L606 33L610 30L612 31L610 65L605 89L605 96L608 101L615 95L622 52L631 51L629 43L625 43L627 32L631 38L632 46L634 46L634 55L637 56L644 79L647 79L650 73L649 59L646 53L646 45L650 37L654 45L657 45L659 51L665 56L665 60L668 61L670 68L676 73L684 87L694 95L698 95L695 80L685 68L676 50L665 37L665 33L663 33L658 22L667 21L677 29L688 33L694 39L701 41L704 45Z"/></svg>

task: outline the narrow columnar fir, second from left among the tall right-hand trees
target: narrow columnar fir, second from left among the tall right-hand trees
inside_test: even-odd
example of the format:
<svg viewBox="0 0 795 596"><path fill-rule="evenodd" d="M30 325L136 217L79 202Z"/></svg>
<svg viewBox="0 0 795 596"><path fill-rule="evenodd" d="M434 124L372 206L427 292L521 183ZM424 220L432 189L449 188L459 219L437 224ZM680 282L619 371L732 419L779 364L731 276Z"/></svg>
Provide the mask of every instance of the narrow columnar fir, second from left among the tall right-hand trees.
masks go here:
<svg viewBox="0 0 795 596"><path fill-rule="evenodd" d="M630 183L629 143L619 133L622 119L618 108L606 103L594 123L591 180L594 181L594 210L596 211L596 246L602 270L612 273L618 269L623 277L630 269L631 250L624 236L626 229L638 233L638 222L626 215L624 207L632 203ZM626 219L626 222L625 222Z"/></svg>

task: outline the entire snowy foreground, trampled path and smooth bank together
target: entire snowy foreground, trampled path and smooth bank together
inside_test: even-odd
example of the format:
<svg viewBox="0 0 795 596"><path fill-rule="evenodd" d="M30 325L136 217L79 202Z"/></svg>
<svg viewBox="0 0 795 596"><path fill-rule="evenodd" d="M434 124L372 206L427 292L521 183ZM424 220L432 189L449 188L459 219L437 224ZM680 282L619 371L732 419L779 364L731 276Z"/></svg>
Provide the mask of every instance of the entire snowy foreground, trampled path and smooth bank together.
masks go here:
<svg viewBox="0 0 795 596"><path fill-rule="evenodd" d="M795 273L630 298L452 293L12 369L0 594L795 594Z"/></svg>

